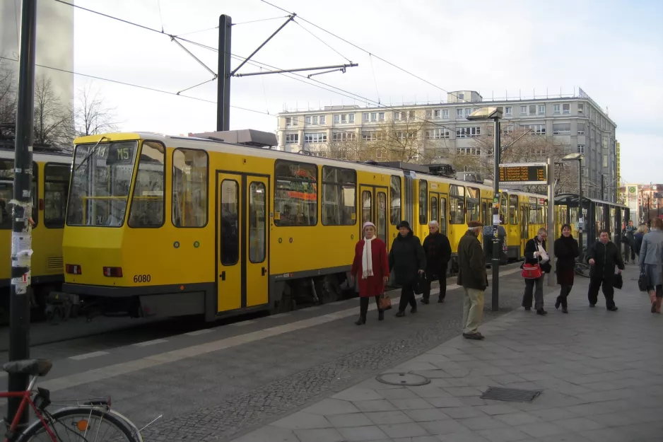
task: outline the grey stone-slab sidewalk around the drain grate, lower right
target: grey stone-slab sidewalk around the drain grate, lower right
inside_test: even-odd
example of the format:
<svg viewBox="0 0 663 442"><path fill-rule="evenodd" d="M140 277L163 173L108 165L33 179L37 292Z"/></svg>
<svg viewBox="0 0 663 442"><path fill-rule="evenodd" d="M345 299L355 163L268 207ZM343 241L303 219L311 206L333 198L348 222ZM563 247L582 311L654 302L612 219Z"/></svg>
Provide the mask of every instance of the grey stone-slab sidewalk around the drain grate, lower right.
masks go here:
<svg viewBox="0 0 663 442"><path fill-rule="evenodd" d="M576 277L568 315L547 296L545 317L515 310L484 323L484 341L454 337L385 372L427 385L370 378L235 442L662 442L663 315L637 277L629 266L617 312L589 308ZM541 394L481 399L491 386Z"/></svg>

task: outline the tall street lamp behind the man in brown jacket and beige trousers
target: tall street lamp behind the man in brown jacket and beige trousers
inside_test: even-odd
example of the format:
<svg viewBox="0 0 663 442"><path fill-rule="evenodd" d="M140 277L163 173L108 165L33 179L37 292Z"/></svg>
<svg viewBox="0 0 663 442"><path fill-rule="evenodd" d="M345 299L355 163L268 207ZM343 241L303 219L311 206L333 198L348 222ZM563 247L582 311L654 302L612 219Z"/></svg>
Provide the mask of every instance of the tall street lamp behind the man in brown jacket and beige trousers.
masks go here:
<svg viewBox="0 0 663 442"><path fill-rule="evenodd" d="M493 296L491 310L500 310L500 119L502 110L498 107L481 107L467 116L469 121L493 120Z"/></svg>

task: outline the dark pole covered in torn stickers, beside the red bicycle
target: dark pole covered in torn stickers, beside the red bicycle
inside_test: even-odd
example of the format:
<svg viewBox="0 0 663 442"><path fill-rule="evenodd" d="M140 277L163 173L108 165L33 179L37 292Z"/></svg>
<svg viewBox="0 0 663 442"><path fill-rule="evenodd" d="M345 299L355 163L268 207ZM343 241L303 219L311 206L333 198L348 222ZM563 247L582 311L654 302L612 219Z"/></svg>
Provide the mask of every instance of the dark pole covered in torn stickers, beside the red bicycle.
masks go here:
<svg viewBox="0 0 663 442"><path fill-rule="evenodd" d="M20 17L20 56L18 61L18 109L11 216L11 292L9 306L9 360L30 357L30 255L32 255L33 212L33 117L35 109L35 41L37 0L23 0ZM28 375L9 374L8 390L23 391ZM18 412L20 397L10 397L7 421ZM27 424L28 409L20 417Z"/></svg>

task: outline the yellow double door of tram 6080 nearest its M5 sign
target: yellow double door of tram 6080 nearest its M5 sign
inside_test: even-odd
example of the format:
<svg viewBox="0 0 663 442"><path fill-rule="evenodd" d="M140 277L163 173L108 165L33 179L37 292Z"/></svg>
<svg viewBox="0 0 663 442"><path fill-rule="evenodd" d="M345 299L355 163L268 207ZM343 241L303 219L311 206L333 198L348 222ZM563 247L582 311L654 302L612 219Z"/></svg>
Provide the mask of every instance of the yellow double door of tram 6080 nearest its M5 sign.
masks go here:
<svg viewBox="0 0 663 442"><path fill-rule="evenodd" d="M218 173L217 310L269 302L269 178Z"/></svg>

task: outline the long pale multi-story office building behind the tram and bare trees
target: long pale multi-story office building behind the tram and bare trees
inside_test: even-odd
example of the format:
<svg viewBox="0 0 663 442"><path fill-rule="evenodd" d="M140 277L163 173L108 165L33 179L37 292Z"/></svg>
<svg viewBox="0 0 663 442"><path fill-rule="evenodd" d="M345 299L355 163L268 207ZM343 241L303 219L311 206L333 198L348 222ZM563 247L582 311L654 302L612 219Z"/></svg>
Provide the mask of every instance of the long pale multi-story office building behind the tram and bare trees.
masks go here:
<svg viewBox="0 0 663 442"><path fill-rule="evenodd" d="M603 188L604 198L616 201L616 124L582 90L568 97L493 101L484 101L476 91L457 91L448 93L445 103L325 106L320 110L281 112L278 149L326 156L331 143L346 140L368 143L375 140L378 127L389 125L402 132L404 138L415 136L422 149L427 149L428 143L441 143L444 148L436 151L435 162L447 162L454 154L491 156L492 149L478 149L476 139L482 134L492 134L493 123L467 120L471 112L486 106L503 110L503 132L527 129L529 134L556 146L559 153L583 153L584 194L600 198ZM399 128L405 129L406 124L409 127L401 131ZM409 133L412 128L416 134Z"/></svg>

